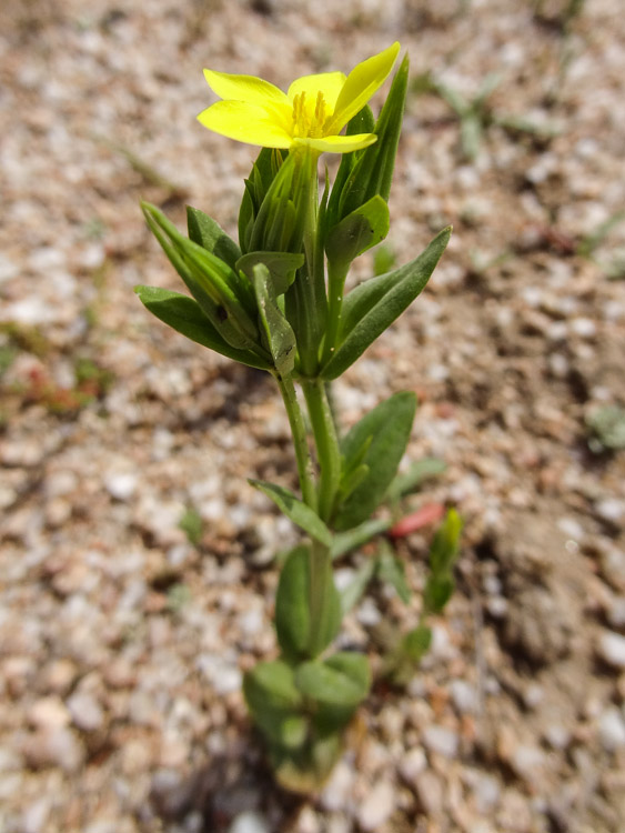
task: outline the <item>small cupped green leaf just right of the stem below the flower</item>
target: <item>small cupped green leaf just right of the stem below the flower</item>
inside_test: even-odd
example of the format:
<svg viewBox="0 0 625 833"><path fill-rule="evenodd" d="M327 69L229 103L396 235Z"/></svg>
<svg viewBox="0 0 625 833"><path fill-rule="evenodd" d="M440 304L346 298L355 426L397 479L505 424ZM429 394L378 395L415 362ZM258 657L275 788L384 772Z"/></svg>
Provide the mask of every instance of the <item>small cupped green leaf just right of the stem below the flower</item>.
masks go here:
<svg viewBox="0 0 625 833"><path fill-rule="evenodd" d="M329 231L327 260L336 270L345 271L355 258L384 240L389 223L389 205L382 197L372 197Z"/></svg>

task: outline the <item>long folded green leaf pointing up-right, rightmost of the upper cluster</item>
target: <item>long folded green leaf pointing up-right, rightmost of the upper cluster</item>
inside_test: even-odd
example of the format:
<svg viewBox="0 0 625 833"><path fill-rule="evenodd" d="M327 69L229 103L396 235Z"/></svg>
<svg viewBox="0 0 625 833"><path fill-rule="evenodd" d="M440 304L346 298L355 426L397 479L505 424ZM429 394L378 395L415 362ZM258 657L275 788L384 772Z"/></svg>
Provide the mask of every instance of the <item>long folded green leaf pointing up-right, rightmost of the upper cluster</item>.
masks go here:
<svg viewBox="0 0 625 833"><path fill-rule="evenodd" d="M365 281L347 294L339 347L321 371L324 379L336 379L344 373L410 307L430 280L451 233L450 225L419 258L390 274Z"/></svg>

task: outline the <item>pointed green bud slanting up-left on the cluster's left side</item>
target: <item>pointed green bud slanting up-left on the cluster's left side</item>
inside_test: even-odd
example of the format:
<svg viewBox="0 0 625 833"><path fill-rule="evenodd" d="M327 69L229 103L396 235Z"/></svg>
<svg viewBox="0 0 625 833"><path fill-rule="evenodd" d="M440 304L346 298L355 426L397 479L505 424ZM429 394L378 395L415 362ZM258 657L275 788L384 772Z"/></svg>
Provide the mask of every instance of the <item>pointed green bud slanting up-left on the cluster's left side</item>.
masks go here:
<svg viewBox="0 0 625 833"><path fill-rule="evenodd" d="M220 335L233 348L254 350L260 333L246 279L189 240L155 205L142 202L150 230Z"/></svg>

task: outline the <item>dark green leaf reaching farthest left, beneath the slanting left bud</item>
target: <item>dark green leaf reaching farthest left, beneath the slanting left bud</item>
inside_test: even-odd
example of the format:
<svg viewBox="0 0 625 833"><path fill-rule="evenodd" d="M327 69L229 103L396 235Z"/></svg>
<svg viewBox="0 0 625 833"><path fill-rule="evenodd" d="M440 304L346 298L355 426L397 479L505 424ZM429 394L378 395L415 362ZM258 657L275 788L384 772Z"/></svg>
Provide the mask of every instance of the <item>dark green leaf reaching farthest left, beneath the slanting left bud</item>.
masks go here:
<svg viewBox="0 0 625 833"><path fill-rule="evenodd" d="M200 304L192 298L159 287L139 285L134 291L152 314L188 339L250 368L272 369L268 360L251 350L238 350L222 339L202 312Z"/></svg>

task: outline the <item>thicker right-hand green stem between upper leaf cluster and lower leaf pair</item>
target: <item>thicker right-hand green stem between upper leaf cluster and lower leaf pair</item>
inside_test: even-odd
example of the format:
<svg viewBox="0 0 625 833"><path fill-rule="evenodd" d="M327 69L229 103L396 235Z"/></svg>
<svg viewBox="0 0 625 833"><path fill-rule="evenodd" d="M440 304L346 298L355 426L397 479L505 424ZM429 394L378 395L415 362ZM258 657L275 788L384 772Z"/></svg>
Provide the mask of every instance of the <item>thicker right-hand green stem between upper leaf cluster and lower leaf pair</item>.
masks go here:
<svg viewBox="0 0 625 833"><path fill-rule="evenodd" d="M323 380L304 380L302 388L311 418L316 456L321 469L317 512L320 518L327 523L332 516L334 500L341 482L339 439Z"/></svg>

